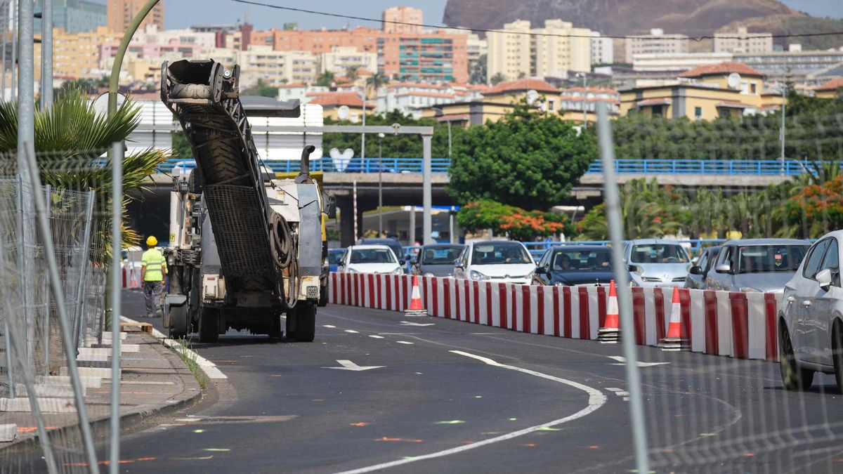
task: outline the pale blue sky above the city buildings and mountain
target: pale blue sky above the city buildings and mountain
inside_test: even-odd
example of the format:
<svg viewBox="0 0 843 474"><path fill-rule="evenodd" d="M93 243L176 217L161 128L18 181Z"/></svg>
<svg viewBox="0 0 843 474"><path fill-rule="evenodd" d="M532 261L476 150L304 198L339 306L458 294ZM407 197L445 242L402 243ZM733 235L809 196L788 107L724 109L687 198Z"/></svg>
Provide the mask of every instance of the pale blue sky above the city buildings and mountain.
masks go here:
<svg viewBox="0 0 843 474"><path fill-rule="evenodd" d="M310 13L295 13L236 3L233 0L163 0L164 21L167 28L187 28L191 24L234 24L246 16L258 30L281 27L287 22L295 22L306 30L329 28L336 29L351 24L352 26L379 27L377 22L364 22L330 18ZM323 12L343 13L365 18L379 19L380 13L395 5L421 8L425 13L426 24L441 24L447 0L255 0L293 8L307 8ZM518 1L518 0L513 0ZM810 13L814 16L843 18L843 0L783 0L791 8Z"/></svg>

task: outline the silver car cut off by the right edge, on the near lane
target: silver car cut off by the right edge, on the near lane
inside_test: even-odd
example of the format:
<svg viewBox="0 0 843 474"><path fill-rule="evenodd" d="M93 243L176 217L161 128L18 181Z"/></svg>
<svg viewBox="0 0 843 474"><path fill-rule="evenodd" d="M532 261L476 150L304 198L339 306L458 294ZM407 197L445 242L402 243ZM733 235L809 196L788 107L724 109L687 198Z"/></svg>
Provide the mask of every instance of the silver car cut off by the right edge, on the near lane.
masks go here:
<svg viewBox="0 0 843 474"><path fill-rule="evenodd" d="M815 372L835 374L843 390L843 230L817 241L787 282L779 310L779 366L787 390L811 386Z"/></svg>

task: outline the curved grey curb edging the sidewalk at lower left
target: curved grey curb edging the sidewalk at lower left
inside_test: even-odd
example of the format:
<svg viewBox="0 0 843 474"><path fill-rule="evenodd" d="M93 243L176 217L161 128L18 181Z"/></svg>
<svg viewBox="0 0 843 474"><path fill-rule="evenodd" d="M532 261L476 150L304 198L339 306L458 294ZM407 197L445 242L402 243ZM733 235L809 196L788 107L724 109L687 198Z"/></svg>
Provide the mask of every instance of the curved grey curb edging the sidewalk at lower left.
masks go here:
<svg viewBox="0 0 843 474"><path fill-rule="evenodd" d="M155 337L155 339L157 339L158 342L160 342L160 339L158 339L158 337ZM164 345L164 347L166 347L166 346ZM172 352L172 350L170 349L170 350L168 350L168 352ZM169 412L175 412L176 410L179 410L181 408L190 407L198 399L201 398L202 391L201 391L201 388L199 386L199 382L196 381L196 377L194 377L193 374L191 374L191 371L187 367L187 364L185 364L185 362L183 360L181 360L180 357L178 357L178 354L175 354L175 355L176 355L175 360L177 361L176 364L178 364L178 367L174 368L174 369L176 369L175 373L179 374L182 378L182 381L185 383L185 391L183 391L179 395L178 400L172 401L172 402L170 402L166 405L163 405L163 406L160 406L160 407L148 407L148 408L145 408L141 411L128 412L128 413L125 413L125 414L121 415L121 417L120 417L121 431L126 429L126 428L134 428L137 425L141 424L145 419L147 419L149 417L153 417L153 416L157 416L157 415L161 415L161 414L169 413ZM186 376L185 376L185 374L186 374ZM189 392L189 389L191 389L191 388L196 389L196 390ZM103 434L105 434L105 431L107 431L107 429L109 428L109 423L110 423L110 417L107 416L107 415L104 416L104 417L98 417L96 419L89 420L89 425L91 427L91 430L92 430L92 432L94 432L94 442L97 442L100 439L105 439L104 436L98 436L96 432L101 429L101 430L103 430ZM49 438L52 438L56 434L62 435L62 434L78 434L78 433L79 433L78 424L71 424L71 425L68 425L68 426L63 426L63 427L47 430L47 436ZM9 448L12 448L12 447L24 448L24 449L31 449L31 448L37 447L37 448L40 449L40 443L39 443L39 440L38 440L38 435L35 434L34 436L27 436L25 438L16 439L13 442L9 443L8 445L3 446L3 448L0 449L0 452L3 452L3 450L8 450Z"/></svg>

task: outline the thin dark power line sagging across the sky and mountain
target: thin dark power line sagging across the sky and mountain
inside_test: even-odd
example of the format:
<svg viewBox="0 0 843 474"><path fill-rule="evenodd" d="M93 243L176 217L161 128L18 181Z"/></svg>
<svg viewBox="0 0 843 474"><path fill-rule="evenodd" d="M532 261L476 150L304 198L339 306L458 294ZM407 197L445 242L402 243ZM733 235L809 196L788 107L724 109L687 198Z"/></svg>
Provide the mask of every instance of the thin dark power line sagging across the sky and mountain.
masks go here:
<svg viewBox="0 0 843 474"><path fill-rule="evenodd" d="M384 20L384 19L373 19L373 18L366 18L366 17L358 17L355 15L346 15L342 13L329 13L329 12L319 12L317 10L309 10L307 8L294 8L294 7L283 7L281 5L275 5L272 3L265 3L265 2L257 2L255 0L230 0L231 2L236 3L245 3L248 5L255 5L258 7L266 7L266 8L275 8L277 10L286 10L288 12L298 12L298 13L309 13L314 15L321 15L326 17L333 17L333 18L341 18L341 19L357 19L360 21L372 21L377 23L389 23L389 24L404 24L407 26L421 26L422 28L435 28L438 30L458 30L458 31L470 31L473 33L503 33L507 35L531 35L531 36L550 36L556 38L594 38L594 36L590 35L560 35L558 33L533 33L529 31L510 31L510 30L485 30L481 28L467 28L464 26L439 26L437 24L423 24L423 23L408 23L405 21L395 21L395 20ZM785 35L771 35L773 38L805 38L811 36L834 36L834 35L843 35L843 31L832 31L827 33L788 33ZM609 38L613 40L651 40L653 36L616 36L616 35L603 35L599 36L600 38ZM713 40L715 38L714 35L704 35L704 36L689 36L687 38L668 38L662 37L663 40L674 40L674 41L684 41L684 40L691 40L691 41L701 41L701 40ZM722 40L746 40L747 38L744 36L717 36L718 39Z"/></svg>

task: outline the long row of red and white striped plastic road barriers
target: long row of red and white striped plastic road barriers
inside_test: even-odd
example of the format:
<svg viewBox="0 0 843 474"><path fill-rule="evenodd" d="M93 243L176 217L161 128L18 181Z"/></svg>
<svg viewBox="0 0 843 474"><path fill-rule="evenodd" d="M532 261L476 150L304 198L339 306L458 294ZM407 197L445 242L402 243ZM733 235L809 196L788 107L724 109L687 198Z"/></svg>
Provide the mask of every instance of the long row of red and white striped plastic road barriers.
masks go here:
<svg viewBox="0 0 843 474"><path fill-rule="evenodd" d="M596 340L606 318L605 287L545 287L419 277L427 313L513 331ZM631 288L635 341L656 346L670 322L673 288ZM402 311L411 277L331 273L330 303ZM776 360L780 294L679 289L681 337L699 353ZM622 337L629 337L623 335Z"/></svg>

